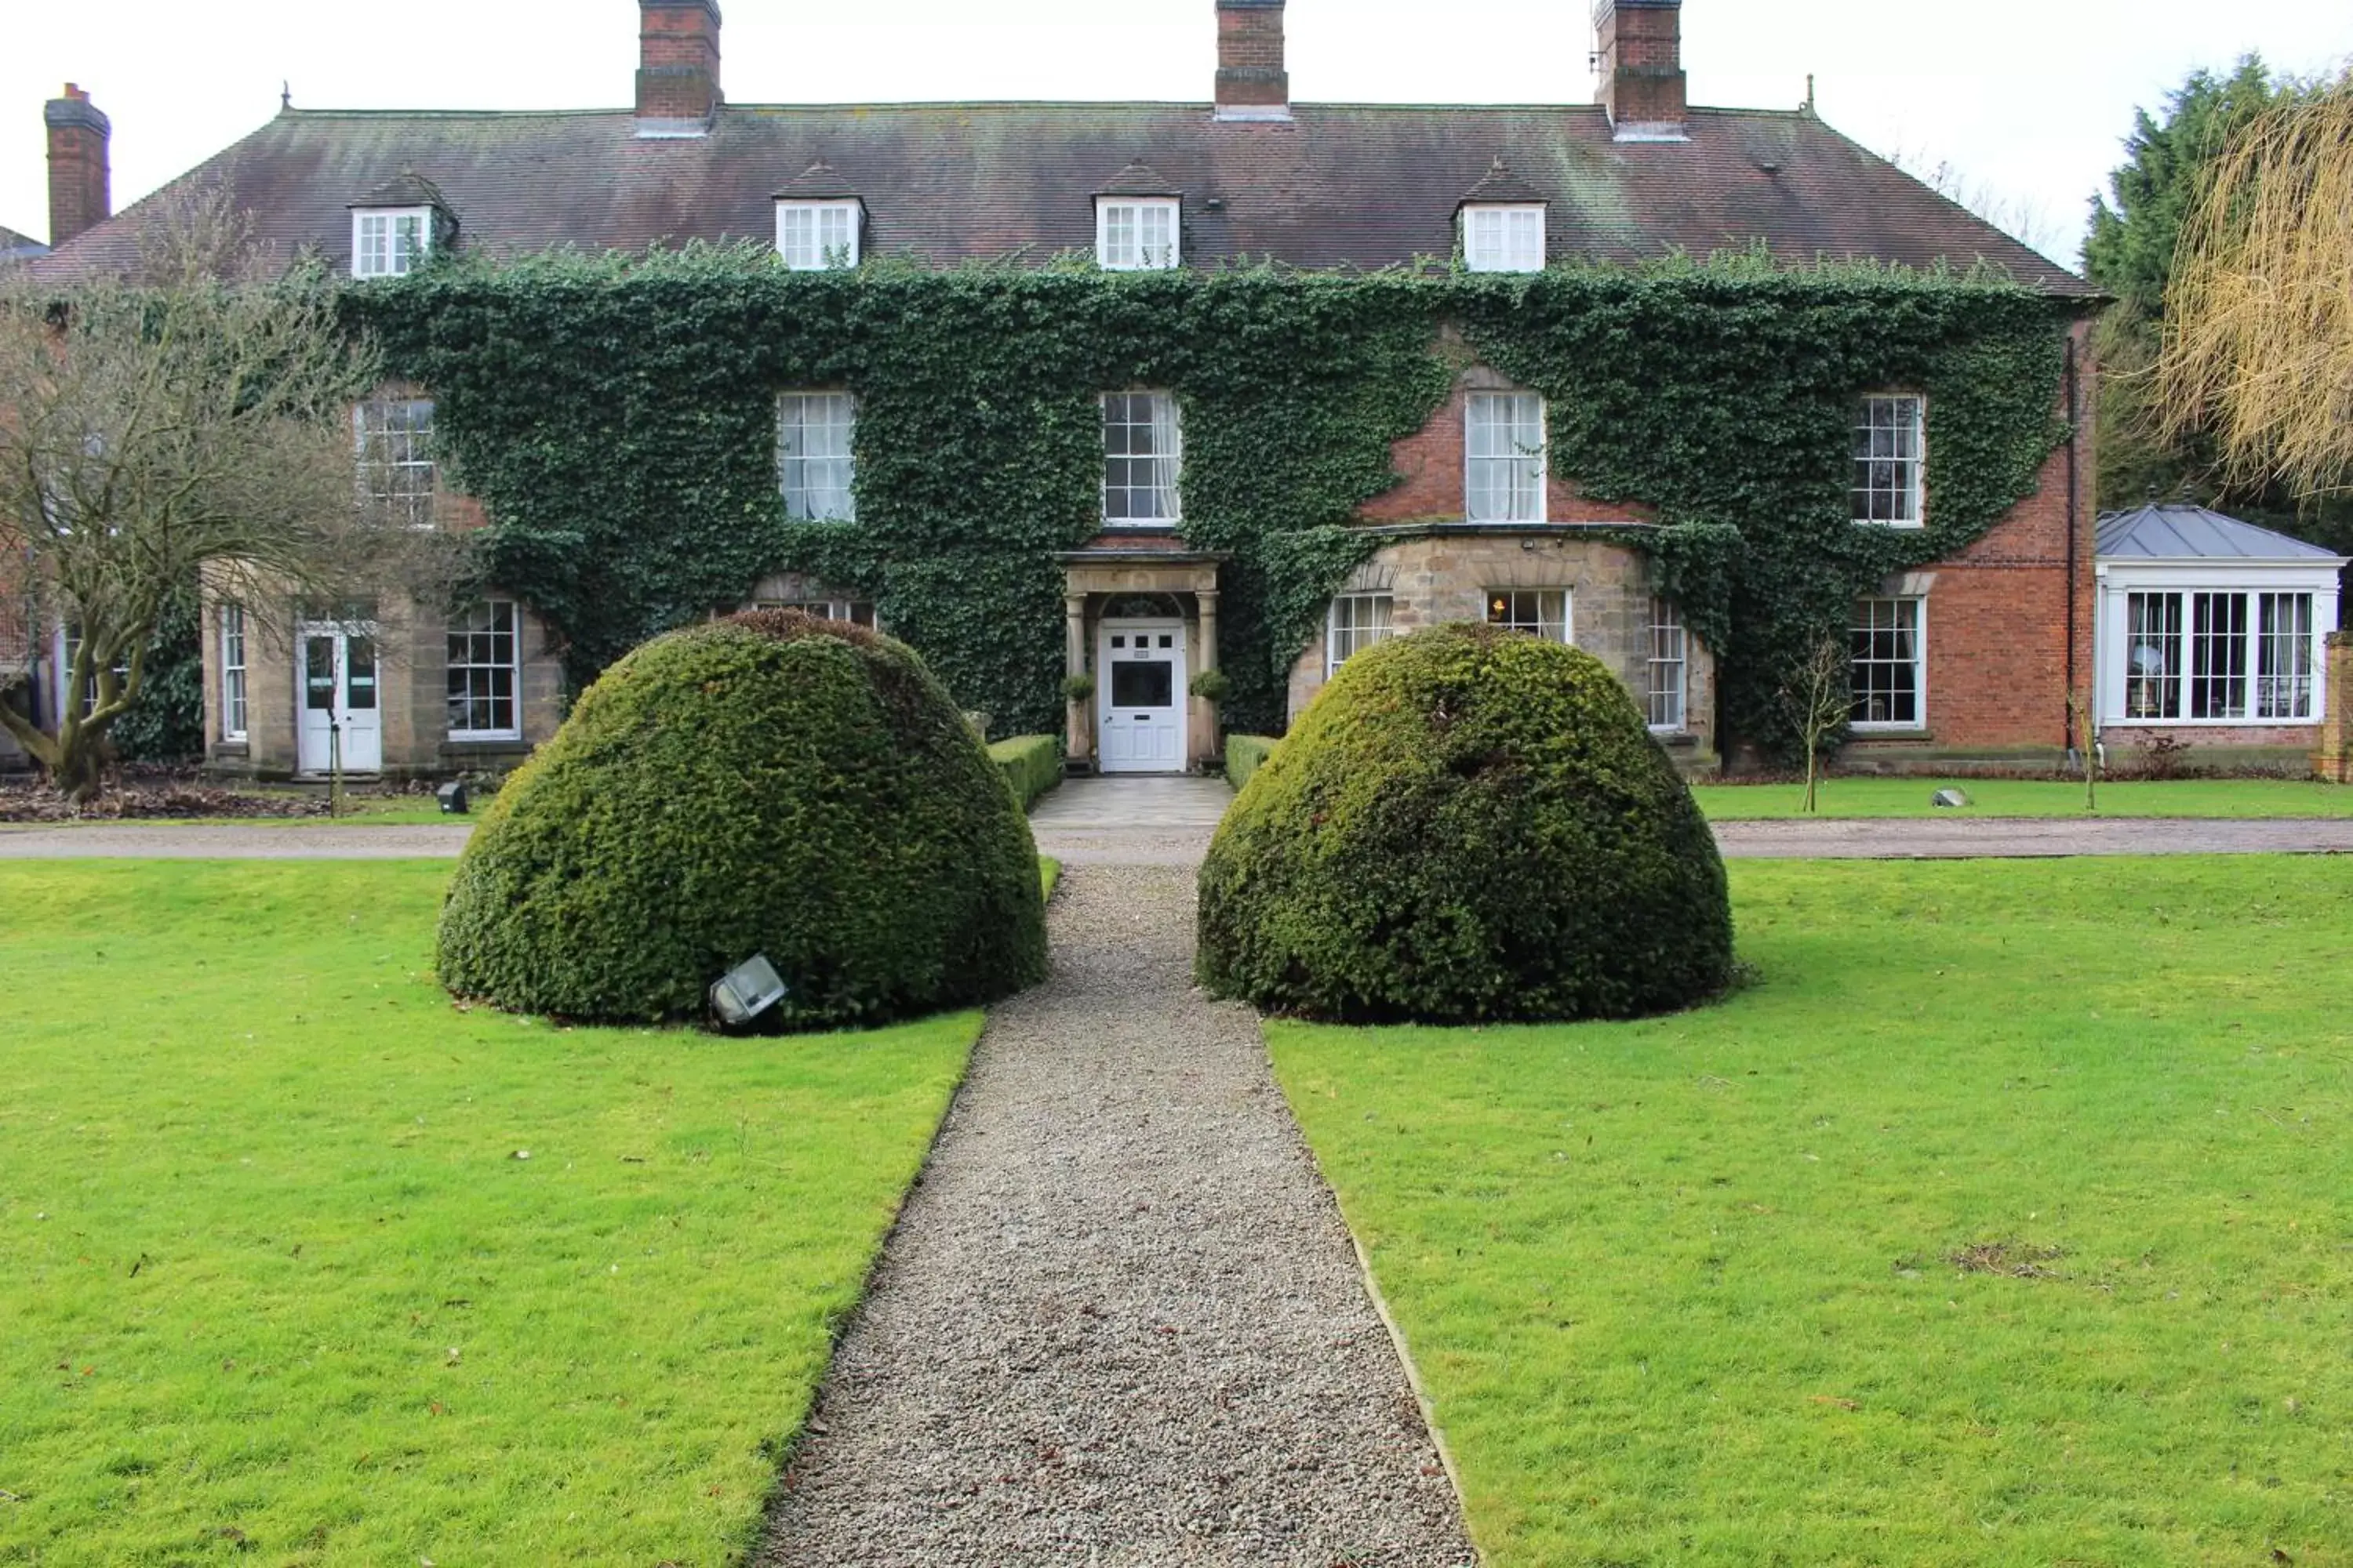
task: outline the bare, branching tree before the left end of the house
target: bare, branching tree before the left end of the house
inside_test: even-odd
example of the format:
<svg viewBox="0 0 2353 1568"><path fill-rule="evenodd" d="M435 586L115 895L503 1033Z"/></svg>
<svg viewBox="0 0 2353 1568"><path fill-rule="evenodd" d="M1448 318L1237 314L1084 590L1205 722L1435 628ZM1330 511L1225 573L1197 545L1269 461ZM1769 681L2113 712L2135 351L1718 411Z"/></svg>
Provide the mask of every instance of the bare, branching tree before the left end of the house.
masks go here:
<svg viewBox="0 0 2353 1568"><path fill-rule="evenodd" d="M125 275L0 275L0 559L71 649L56 729L5 703L0 724L54 788L96 792L174 590L341 604L447 569L447 541L360 494L351 407L376 378L325 275L275 266L226 190L151 226Z"/></svg>

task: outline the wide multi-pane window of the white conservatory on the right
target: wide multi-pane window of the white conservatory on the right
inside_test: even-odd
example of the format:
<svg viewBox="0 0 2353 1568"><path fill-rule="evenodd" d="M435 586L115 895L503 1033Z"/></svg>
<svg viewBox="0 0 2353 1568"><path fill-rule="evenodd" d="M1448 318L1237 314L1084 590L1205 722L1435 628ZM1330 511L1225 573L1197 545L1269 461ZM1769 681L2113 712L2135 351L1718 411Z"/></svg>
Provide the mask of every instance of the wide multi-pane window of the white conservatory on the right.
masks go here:
<svg viewBox="0 0 2353 1568"><path fill-rule="evenodd" d="M2311 719L2313 595L2125 597L2125 717Z"/></svg>

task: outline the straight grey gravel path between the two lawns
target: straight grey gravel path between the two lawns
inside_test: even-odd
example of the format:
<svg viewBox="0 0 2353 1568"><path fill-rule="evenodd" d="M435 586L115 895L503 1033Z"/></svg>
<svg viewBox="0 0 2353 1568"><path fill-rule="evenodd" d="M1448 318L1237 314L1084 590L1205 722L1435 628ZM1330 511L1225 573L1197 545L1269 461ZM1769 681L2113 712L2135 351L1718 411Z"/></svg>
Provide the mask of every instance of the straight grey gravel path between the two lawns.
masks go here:
<svg viewBox="0 0 2353 1568"><path fill-rule="evenodd" d="M1257 1018L1191 985L1193 875L1075 867L1052 922L758 1561L1475 1561Z"/></svg>

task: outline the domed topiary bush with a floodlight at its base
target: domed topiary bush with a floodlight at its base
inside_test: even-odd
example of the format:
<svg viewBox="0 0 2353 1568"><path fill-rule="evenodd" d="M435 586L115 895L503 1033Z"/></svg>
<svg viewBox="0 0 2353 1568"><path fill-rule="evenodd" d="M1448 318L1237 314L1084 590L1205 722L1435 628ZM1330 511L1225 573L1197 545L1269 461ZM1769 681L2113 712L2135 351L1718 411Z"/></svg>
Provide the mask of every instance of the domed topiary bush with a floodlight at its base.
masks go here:
<svg viewBox="0 0 2353 1568"><path fill-rule="evenodd" d="M459 997L701 1018L765 952L769 1020L875 1025L1045 976L1028 820L906 646L795 611L656 637L515 771L440 919Z"/></svg>

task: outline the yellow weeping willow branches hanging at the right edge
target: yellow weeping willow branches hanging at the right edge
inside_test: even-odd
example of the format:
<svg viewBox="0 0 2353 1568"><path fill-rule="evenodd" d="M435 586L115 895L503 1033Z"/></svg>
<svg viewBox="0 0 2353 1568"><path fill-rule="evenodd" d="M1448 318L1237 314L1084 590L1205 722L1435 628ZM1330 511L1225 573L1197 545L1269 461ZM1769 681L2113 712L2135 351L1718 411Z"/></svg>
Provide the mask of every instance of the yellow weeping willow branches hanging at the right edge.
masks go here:
<svg viewBox="0 0 2353 1568"><path fill-rule="evenodd" d="M2165 435L2212 433L2235 480L2353 494L2353 73L2231 136L2165 303Z"/></svg>

